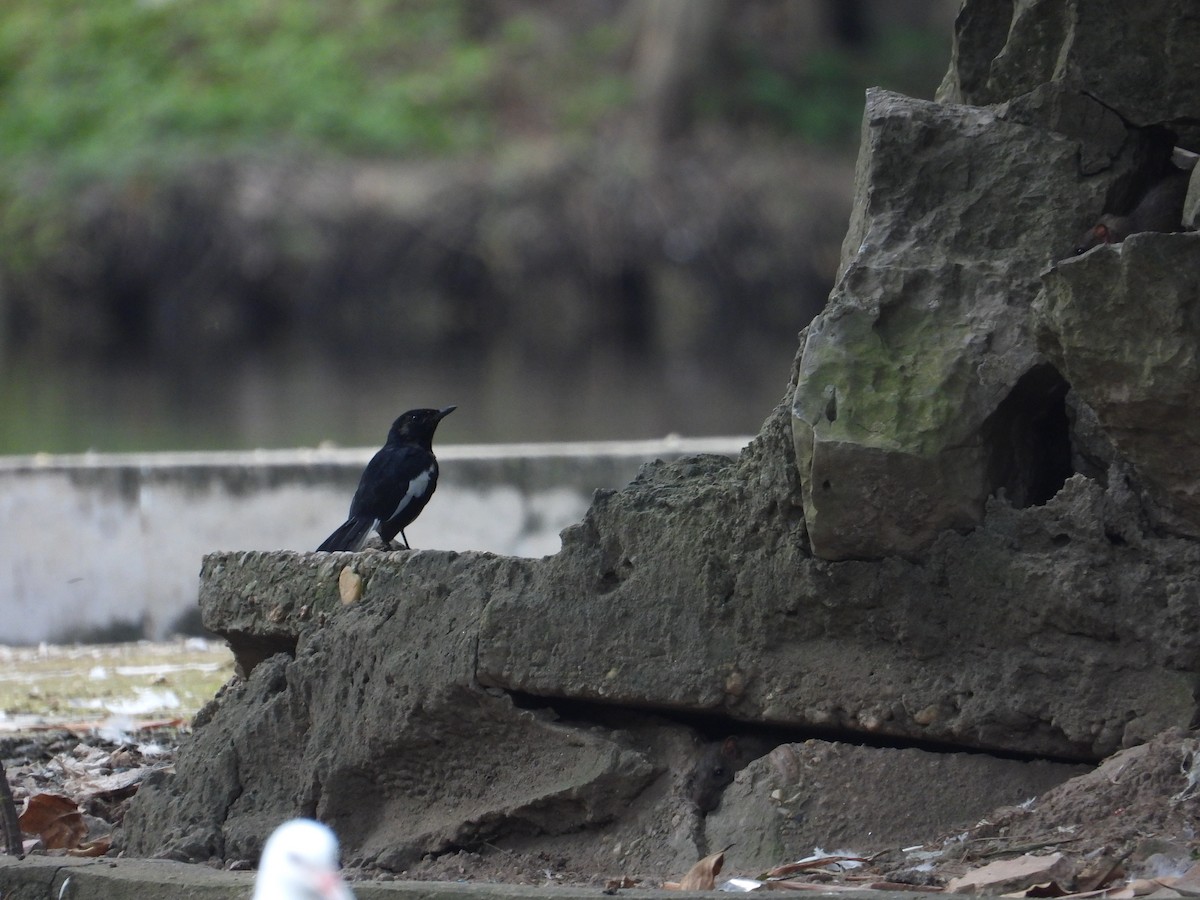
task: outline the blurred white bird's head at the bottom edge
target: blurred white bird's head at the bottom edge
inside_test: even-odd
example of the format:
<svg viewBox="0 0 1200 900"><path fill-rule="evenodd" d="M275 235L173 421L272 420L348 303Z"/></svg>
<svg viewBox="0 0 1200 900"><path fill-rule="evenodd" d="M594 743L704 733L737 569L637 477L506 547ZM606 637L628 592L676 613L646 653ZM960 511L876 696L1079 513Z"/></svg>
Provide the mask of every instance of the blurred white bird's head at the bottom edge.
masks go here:
<svg viewBox="0 0 1200 900"><path fill-rule="evenodd" d="M254 900L353 900L337 866L337 838L320 822L284 822L263 847Z"/></svg>

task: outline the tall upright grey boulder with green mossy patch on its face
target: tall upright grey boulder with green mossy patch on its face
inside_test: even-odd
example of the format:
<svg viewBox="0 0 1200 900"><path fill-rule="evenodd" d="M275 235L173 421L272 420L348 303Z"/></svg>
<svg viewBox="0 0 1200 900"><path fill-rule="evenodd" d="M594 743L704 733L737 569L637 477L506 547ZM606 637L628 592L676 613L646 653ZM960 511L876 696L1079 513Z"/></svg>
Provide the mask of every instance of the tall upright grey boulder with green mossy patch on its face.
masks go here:
<svg viewBox="0 0 1200 900"><path fill-rule="evenodd" d="M868 95L842 270L793 398L818 556L916 553L1002 487L1045 499L1007 458L1032 434L1001 406L1039 364L1037 274L1094 205L1078 155L994 110Z"/></svg>

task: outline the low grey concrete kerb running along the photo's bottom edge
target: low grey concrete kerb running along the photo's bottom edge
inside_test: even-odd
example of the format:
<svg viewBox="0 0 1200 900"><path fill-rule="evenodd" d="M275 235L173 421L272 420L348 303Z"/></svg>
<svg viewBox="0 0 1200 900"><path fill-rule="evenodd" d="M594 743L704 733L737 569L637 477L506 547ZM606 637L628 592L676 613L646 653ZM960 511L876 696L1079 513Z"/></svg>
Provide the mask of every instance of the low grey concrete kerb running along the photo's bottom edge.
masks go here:
<svg viewBox="0 0 1200 900"><path fill-rule="evenodd" d="M682 875L682 872L680 872ZM246 900L253 872L228 872L166 859L73 859L68 857L0 857L0 900ZM600 898L594 888L474 882L354 882L359 900L580 900ZM806 892L809 900L832 900L833 892ZM677 890L623 889L625 900L679 898ZM688 892L689 898L716 900L718 890ZM892 890L836 892L838 900L912 900Z"/></svg>

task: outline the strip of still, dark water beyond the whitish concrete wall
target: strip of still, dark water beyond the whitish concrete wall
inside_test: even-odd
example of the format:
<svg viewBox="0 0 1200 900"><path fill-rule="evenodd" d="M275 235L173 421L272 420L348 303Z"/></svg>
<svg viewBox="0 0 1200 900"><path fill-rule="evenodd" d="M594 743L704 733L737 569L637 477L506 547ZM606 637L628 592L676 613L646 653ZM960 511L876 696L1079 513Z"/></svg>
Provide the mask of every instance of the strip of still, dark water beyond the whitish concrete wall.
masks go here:
<svg viewBox="0 0 1200 900"><path fill-rule="evenodd" d="M0 454L383 443L413 407L457 404L443 443L756 433L794 344L667 362L595 353L570 366L492 353L335 362L258 354L184 367L0 361Z"/></svg>

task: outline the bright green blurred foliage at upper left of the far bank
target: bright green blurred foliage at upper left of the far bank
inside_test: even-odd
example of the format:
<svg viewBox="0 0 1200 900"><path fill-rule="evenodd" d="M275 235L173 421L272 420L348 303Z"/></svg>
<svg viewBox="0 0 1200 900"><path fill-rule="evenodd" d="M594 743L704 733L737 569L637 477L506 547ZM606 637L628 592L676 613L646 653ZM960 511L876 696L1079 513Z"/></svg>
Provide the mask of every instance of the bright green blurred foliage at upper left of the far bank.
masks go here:
<svg viewBox="0 0 1200 900"><path fill-rule="evenodd" d="M524 16L472 32L468 0L7 0L0 154L110 170L181 150L355 156L488 145L536 49L552 126L620 102L610 26L554 48ZM540 48L540 49L539 49ZM571 78L578 92L571 90ZM582 95L582 97L581 97ZM562 103L559 103L562 100Z"/></svg>

